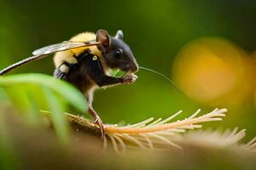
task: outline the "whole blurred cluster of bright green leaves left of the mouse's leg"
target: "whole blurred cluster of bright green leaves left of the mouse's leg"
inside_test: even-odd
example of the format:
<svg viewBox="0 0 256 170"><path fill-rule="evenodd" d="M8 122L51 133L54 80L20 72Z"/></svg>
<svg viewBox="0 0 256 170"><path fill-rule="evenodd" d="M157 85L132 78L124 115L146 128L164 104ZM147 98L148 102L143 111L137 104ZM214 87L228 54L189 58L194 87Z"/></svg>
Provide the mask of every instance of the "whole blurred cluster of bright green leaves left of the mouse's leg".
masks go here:
<svg viewBox="0 0 256 170"><path fill-rule="evenodd" d="M26 122L38 124L42 122L40 110L50 111L56 133L63 142L67 141L68 135L67 120L63 114L67 106L71 105L83 114L87 110L84 95L76 88L43 74L0 77L0 87L26 117Z"/></svg>

